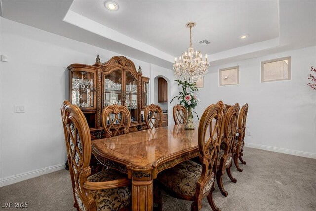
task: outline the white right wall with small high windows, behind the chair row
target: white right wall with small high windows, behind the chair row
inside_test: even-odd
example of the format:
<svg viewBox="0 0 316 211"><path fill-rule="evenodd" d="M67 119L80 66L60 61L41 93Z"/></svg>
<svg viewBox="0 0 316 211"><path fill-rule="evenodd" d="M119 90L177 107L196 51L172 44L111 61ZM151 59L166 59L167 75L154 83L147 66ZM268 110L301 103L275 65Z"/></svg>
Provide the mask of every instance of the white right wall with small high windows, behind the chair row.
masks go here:
<svg viewBox="0 0 316 211"><path fill-rule="evenodd" d="M260 82L261 61L292 57L292 79ZM239 65L239 85L219 87L219 69ZM316 90L306 84L316 66L316 47L298 49L209 68L199 89L199 115L207 105L249 104L246 146L316 158Z"/></svg>

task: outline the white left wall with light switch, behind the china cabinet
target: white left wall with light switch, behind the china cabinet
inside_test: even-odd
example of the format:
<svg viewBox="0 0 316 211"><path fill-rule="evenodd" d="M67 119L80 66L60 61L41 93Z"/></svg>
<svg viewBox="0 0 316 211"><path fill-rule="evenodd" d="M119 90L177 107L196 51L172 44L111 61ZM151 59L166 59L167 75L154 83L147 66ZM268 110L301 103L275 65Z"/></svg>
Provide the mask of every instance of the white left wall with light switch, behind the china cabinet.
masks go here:
<svg viewBox="0 0 316 211"><path fill-rule="evenodd" d="M67 66L94 64L96 54L101 62L120 54L2 17L0 20L1 54L9 58L9 62L0 63L3 186L64 168L60 106L68 99ZM151 77L149 63L129 59L137 69L141 66L143 76ZM154 69L155 75L161 70L158 66ZM26 112L14 113L14 105L24 105Z"/></svg>

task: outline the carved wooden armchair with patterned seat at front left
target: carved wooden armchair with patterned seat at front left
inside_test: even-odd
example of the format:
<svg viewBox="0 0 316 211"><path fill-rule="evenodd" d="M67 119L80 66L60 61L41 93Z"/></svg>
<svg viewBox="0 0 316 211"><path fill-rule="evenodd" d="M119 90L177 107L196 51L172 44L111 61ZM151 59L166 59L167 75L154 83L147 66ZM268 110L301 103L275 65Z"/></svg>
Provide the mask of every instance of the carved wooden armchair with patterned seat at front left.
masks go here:
<svg viewBox="0 0 316 211"><path fill-rule="evenodd" d="M64 101L61 116L72 181L74 207L78 211L113 211L130 208L130 180L114 169L91 175L91 136L82 111Z"/></svg>

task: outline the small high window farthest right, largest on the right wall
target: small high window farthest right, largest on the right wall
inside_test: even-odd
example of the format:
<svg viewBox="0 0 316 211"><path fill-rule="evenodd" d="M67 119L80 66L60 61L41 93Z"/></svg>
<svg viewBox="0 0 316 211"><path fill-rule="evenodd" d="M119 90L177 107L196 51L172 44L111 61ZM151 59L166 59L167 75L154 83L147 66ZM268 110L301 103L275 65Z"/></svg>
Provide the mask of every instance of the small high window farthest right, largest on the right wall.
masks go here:
<svg viewBox="0 0 316 211"><path fill-rule="evenodd" d="M261 62L261 82L291 79L291 57Z"/></svg>

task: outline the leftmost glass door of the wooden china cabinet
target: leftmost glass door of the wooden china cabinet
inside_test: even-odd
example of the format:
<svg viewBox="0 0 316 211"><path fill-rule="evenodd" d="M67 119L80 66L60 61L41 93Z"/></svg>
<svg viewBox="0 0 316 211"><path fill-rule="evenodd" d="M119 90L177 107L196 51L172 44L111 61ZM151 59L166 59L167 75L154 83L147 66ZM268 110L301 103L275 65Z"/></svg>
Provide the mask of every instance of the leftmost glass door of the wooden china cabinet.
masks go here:
<svg viewBox="0 0 316 211"><path fill-rule="evenodd" d="M93 108L94 102L94 73L85 71L71 72L71 103L80 108Z"/></svg>

